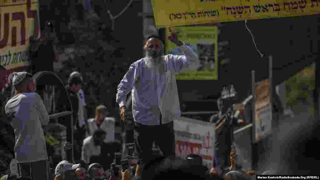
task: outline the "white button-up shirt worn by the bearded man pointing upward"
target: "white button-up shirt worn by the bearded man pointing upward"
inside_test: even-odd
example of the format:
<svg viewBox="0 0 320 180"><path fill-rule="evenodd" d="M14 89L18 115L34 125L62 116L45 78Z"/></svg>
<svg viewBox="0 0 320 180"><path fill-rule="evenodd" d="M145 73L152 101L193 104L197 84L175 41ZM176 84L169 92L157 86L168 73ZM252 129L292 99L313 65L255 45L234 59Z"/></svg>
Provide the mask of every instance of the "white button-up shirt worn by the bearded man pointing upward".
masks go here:
<svg viewBox="0 0 320 180"><path fill-rule="evenodd" d="M180 46L184 55L163 56L162 66L148 68L147 59L142 58L131 64L118 85L116 102L125 104L126 95L132 93L132 113L134 121L148 126L171 122L180 116L175 75L185 70L196 70L199 59L187 45Z"/></svg>

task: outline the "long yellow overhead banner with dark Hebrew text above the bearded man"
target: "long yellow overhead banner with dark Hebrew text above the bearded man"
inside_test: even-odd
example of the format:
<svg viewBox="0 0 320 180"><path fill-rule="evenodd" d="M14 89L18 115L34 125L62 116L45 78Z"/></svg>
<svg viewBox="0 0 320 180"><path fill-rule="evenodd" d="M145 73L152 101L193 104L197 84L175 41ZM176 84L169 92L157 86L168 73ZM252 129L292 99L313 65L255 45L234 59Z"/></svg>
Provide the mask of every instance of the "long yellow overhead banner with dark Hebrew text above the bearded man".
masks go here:
<svg viewBox="0 0 320 180"><path fill-rule="evenodd" d="M151 0L158 28L318 14L320 0Z"/></svg>

